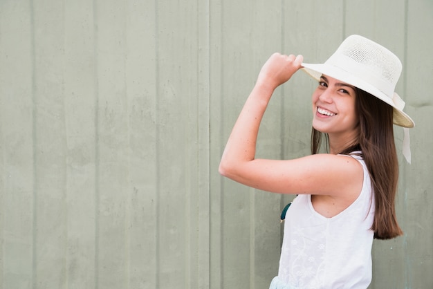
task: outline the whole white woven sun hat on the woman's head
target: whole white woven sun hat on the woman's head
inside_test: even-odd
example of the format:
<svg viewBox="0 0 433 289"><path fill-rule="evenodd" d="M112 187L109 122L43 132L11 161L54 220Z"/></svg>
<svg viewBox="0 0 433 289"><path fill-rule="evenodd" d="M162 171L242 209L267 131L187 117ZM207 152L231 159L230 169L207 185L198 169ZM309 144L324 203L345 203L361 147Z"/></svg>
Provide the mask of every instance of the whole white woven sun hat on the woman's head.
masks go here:
<svg viewBox="0 0 433 289"><path fill-rule="evenodd" d="M400 59L380 44L351 35L324 64L302 66L316 80L324 74L367 91L394 108L394 124L414 127L412 118L403 112L405 102L394 92L402 69Z"/></svg>

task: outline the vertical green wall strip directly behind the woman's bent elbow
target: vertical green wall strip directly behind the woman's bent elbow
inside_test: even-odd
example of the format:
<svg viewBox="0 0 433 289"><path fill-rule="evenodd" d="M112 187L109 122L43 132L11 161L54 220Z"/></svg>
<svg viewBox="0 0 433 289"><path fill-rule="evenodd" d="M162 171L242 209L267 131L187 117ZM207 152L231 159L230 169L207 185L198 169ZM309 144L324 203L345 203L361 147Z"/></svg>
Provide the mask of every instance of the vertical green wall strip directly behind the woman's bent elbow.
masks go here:
<svg viewBox="0 0 433 289"><path fill-rule="evenodd" d="M248 97L255 77L252 65L252 44L255 21L254 2L243 5L237 1L222 1L221 23L221 71L222 98L221 122L226 140L236 121L243 102ZM245 69L246 67L250 69ZM221 156L221 155L220 155ZM215 171L216 172L216 171ZM224 179L221 190L222 230L222 288L251 286L251 268L254 265L254 189ZM233 238L233 236L237 236Z"/></svg>

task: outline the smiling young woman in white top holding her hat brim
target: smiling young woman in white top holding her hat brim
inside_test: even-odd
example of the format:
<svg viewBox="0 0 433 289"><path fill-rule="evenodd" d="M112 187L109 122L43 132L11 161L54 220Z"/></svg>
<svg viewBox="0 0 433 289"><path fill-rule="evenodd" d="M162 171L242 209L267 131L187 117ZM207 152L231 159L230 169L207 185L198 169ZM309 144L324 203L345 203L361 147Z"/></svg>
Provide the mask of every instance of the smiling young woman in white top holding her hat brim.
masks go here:
<svg viewBox="0 0 433 289"><path fill-rule="evenodd" d="M275 53L261 68L221 158L223 176L257 189L297 194L286 212L278 276L270 288L367 288L374 237L402 234L394 199L398 162L393 122L413 127L394 93L398 57L351 35L324 64ZM270 97L303 68L312 96L311 156L255 158ZM328 153L318 153L322 140Z"/></svg>

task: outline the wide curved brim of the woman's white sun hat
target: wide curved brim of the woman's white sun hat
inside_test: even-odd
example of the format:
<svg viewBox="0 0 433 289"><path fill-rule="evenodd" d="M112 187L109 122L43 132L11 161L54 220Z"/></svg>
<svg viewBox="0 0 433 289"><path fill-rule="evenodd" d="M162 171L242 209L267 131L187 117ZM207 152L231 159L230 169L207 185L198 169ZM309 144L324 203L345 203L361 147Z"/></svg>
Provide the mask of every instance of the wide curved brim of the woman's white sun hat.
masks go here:
<svg viewBox="0 0 433 289"><path fill-rule="evenodd" d="M394 104L394 102L385 93L380 91L375 86L372 86L368 82L361 80L359 77L351 75L351 73L348 73L347 71L344 71L341 68L331 66L329 64L302 63L301 65L303 66L302 70L305 71L311 77L313 77L315 80L320 80L320 76L322 76L322 74L328 75L329 77L333 77L336 80L340 80L341 82L360 88L362 91L366 91L367 93L370 93L371 95L378 97L378 99L382 100L383 102L393 107L394 124L400 127L408 127L408 128L415 126L415 123L412 120L412 118L410 118L409 115L407 115L401 109L398 109L398 107L396 107L396 104Z"/></svg>

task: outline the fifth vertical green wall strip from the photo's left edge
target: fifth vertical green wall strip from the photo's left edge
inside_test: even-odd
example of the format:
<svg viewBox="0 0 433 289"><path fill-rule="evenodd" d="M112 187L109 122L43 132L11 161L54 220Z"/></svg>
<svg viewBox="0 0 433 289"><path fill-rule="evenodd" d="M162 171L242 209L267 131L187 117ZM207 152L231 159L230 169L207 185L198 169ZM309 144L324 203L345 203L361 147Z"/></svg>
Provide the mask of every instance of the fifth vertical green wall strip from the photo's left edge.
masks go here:
<svg viewBox="0 0 433 289"><path fill-rule="evenodd" d="M127 288L156 287L155 9L154 3L126 3L130 182L125 192Z"/></svg>

